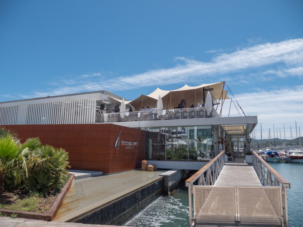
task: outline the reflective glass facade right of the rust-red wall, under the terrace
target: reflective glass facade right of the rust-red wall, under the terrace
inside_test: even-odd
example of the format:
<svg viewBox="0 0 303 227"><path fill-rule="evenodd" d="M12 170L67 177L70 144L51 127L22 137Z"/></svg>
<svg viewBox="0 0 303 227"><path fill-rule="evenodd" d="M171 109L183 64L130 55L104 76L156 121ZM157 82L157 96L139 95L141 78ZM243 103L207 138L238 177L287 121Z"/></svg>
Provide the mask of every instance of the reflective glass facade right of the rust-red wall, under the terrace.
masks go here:
<svg viewBox="0 0 303 227"><path fill-rule="evenodd" d="M212 159L212 126L146 128L145 158L165 161Z"/></svg>

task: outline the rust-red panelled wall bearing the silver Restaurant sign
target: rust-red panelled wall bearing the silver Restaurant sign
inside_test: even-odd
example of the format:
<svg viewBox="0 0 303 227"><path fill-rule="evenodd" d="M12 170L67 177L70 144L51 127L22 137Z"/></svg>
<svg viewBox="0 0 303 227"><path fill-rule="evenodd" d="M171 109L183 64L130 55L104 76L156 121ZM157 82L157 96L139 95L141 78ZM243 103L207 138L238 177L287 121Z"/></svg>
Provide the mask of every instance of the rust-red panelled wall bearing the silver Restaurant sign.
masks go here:
<svg viewBox="0 0 303 227"><path fill-rule="evenodd" d="M5 125L5 128L15 130L21 142L39 137L43 144L62 147L68 151L71 169L115 173L140 168L145 157L145 131L140 129L114 124ZM126 149L121 140L138 145Z"/></svg>

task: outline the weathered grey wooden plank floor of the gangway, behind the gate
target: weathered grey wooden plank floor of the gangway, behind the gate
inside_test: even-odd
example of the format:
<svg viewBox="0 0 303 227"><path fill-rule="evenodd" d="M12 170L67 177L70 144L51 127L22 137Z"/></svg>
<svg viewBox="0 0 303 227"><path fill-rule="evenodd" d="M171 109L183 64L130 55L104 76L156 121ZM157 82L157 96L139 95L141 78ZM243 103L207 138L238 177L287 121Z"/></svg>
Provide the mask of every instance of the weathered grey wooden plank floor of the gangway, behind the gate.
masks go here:
<svg viewBox="0 0 303 227"><path fill-rule="evenodd" d="M253 166L225 165L215 186L262 186Z"/></svg>

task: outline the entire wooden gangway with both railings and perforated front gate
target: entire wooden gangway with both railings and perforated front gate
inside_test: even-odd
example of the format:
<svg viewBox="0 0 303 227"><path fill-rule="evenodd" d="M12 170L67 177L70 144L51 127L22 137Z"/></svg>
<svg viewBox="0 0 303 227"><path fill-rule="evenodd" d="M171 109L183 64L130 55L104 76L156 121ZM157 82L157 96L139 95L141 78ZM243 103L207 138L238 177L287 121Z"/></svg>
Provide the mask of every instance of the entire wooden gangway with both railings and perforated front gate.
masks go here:
<svg viewBox="0 0 303 227"><path fill-rule="evenodd" d="M224 153L186 180L190 225L288 227L289 182L256 153L251 164Z"/></svg>

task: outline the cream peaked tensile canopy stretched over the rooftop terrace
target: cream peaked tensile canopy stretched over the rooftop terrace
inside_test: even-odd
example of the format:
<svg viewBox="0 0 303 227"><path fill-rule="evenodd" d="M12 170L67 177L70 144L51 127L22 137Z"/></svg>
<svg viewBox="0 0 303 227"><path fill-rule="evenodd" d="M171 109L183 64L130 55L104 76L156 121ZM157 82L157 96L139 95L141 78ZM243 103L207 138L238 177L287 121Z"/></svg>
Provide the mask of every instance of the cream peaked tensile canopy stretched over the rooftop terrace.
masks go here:
<svg viewBox="0 0 303 227"><path fill-rule="evenodd" d="M203 88L212 88L212 94L216 100L229 99L226 95L227 90L223 90L223 84L224 82L218 82L213 84L201 84L195 87L190 87L185 84L183 87L176 90L161 90L157 88L151 94L142 94L135 100L129 101L128 103L135 107L135 110L141 110L142 106L145 107L145 109L148 106L152 108L157 104L158 97L160 96L163 103L163 109L173 109L174 107L177 107L182 99L185 99L186 101L185 107L188 108L191 104L194 104L196 107L197 103L203 103ZM206 98L207 91L205 91L204 95Z"/></svg>

